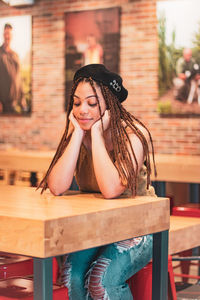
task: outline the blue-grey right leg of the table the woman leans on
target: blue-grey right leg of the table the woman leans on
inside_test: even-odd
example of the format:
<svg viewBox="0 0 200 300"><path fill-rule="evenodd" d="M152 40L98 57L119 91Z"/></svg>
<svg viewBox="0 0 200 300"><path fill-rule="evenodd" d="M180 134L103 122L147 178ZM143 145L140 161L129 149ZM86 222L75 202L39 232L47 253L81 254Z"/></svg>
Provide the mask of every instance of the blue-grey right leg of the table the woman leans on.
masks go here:
<svg viewBox="0 0 200 300"><path fill-rule="evenodd" d="M153 234L152 300L167 300L168 230Z"/></svg>

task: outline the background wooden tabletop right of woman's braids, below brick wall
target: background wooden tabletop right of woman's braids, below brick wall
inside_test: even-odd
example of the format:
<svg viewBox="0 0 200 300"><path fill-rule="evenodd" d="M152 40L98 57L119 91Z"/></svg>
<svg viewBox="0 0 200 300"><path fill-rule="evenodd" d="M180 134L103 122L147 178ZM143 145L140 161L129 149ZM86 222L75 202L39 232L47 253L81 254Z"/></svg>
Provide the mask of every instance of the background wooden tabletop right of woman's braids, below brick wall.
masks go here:
<svg viewBox="0 0 200 300"><path fill-rule="evenodd" d="M156 154L155 161L158 174L152 180L200 183L200 156Z"/></svg>

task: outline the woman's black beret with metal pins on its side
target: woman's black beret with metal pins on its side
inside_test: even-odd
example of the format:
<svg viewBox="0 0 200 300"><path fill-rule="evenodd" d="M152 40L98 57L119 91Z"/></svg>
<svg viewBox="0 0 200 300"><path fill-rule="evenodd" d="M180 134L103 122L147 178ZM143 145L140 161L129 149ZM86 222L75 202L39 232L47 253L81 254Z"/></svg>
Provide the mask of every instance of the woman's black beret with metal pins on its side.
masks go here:
<svg viewBox="0 0 200 300"><path fill-rule="evenodd" d="M91 77L94 81L101 82L107 86L109 90L118 98L120 102L123 102L127 96L128 91L122 85L122 78L116 73L110 72L102 64L86 65L76 71L73 81L75 82L80 77Z"/></svg>

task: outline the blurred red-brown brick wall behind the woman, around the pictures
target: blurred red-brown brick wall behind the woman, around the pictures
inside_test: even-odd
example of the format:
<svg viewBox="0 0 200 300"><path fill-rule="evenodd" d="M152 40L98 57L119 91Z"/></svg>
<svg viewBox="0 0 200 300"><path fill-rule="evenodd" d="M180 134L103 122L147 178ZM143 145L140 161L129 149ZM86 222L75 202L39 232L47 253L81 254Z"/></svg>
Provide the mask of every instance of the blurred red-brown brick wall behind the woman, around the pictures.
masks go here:
<svg viewBox="0 0 200 300"><path fill-rule="evenodd" d="M0 148L54 149L65 124L64 13L121 7L120 73L126 108L149 127L160 153L200 154L198 118L160 118L156 0L35 0L32 7L0 2L0 17L32 15L32 114L0 117Z"/></svg>

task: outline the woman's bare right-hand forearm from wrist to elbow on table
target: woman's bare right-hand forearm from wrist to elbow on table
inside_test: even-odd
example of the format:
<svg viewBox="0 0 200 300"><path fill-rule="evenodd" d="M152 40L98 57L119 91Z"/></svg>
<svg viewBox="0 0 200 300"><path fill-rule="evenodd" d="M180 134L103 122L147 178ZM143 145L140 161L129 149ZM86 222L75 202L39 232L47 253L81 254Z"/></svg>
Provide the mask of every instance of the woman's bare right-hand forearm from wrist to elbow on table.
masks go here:
<svg viewBox="0 0 200 300"><path fill-rule="evenodd" d="M100 132L92 132L92 158L95 176L101 193L105 198L114 198L123 193L118 171L105 147L105 141Z"/></svg>

